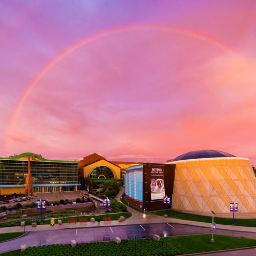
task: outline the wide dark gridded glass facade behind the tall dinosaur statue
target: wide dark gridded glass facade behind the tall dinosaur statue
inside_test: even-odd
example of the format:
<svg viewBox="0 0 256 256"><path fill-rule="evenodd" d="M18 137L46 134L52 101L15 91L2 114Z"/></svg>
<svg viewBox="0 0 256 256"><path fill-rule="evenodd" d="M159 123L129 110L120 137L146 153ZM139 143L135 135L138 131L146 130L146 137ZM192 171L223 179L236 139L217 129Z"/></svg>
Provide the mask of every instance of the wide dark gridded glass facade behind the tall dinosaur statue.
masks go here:
<svg viewBox="0 0 256 256"><path fill-rule="evenodd" d="M78 162L30 161L33 185L77 184ZM0 185L25 185L28 161L0 159Z"/></svg>

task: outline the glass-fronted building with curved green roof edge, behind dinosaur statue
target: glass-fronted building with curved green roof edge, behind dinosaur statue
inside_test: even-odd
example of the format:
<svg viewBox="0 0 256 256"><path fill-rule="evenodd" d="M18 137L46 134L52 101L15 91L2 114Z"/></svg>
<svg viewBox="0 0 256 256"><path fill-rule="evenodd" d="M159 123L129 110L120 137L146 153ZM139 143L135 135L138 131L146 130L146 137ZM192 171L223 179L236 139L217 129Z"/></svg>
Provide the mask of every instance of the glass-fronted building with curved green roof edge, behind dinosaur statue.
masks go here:
<svg viewBox="0 0 256 256"><path fill-rule="evenodd" d="M34 193L77 190L78 162L49 160L34 153L23 153L0 158L1 195L25 194L29 162Z"/></svg>

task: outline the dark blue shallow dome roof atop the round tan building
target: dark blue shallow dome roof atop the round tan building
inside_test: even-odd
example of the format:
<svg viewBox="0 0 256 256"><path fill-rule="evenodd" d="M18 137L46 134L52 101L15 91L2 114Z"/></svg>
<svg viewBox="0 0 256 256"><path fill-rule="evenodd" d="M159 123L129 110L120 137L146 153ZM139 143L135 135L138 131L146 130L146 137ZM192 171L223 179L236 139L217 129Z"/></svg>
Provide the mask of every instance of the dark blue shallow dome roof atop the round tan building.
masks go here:
<svg viewBox="0 0 256 256"><path fill-rule="evenodd" d="M231 154L217 150L197 150L182 154L176 157L174 161L197 159L197 158L212 158L212 157L236 157Z"/></svg>

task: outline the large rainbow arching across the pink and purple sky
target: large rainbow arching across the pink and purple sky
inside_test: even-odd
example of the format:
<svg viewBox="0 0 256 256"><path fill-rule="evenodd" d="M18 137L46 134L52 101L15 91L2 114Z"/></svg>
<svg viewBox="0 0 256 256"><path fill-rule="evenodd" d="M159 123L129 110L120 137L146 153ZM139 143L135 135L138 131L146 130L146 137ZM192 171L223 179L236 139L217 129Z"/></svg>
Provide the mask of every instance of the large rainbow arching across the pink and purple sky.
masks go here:
<svg viewBox="0 0 256 256"><path fill-rule="evenodd" d="M226 52L234 54L234 55L242 58L243 60L247 61L247 59L245 59L243 56L241 56L238 52L234 51L233 49L226 46L222 42L220 42L220 41L218 41L214 38L211 38L209 36L206 36L206 35L203 35L201 33L198 33L198 32L192 31L192 30L188 30L188 29L185 29L185 28L172 27L172 26L159 26L159 25L140 25L140 26L121 27L121 28L116 28L116 29L112 29L112 30L108 30L108 31L105 31L105 32L100 32L100 33L94 34L94 35L92 35L88 38L85 38L85 39L82 39L82 40L78 41L76 44L72 45L71 47L69 47L65 51L58 54L30 82L30 84L26 88L25 92L23 93L22 97L20 97L20 99L17 103L17 106L16 106L16 108L13 112L13 115L11 117L11 121L10 121L10 124L9 124L9 129L8 129L8 134L7 134L7 138L6 138L6 142L5 142L5 151L6 152L8 151L9 143L11 141L12 130L13 130L14 124L17 120L20 108L22 108L23 103L25 102L27 96L29 95L29 93L31 92L33 87L36 85L36 83L52 67L54 67L59 61L61 61L67 55L69 55L70 53L74 52L75 50L79 49L80 47L82 47L84 45L87 45L91 42L94 42L94 41L96 41L98 39L101 39L103 37L106 37L106 36L110 36L110 35L117 34L117 33L123 33L123 32L127 32L127 31L133 31L133 30L160 30L160 31L174 32L174 33L183 34L183 35L186 35L186 36L189 36L189 37L194 37L194 38L197 38L199 40L203 40L205 42L208 42L211 45L214 45L214 46L216 46L216 47L218 47L218 48L220 48L220 49L222 49Z"/></svg>

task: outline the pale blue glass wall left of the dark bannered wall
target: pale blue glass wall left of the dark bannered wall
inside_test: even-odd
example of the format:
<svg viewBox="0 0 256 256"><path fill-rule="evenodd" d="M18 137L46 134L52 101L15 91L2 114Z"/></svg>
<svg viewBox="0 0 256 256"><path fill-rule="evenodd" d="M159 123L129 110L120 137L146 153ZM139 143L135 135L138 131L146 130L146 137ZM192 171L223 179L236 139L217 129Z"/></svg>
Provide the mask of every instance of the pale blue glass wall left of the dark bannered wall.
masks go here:
<svg viewBox="0 0 256 256"><path fill-rule="evenodd" d="M126 169L124 177L125 195L143 201L143 165Z"/></svg>

